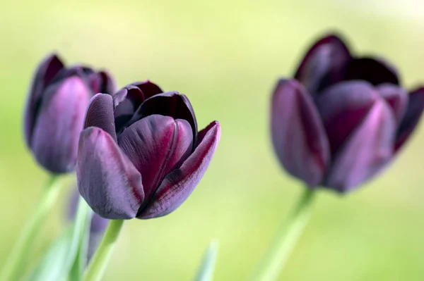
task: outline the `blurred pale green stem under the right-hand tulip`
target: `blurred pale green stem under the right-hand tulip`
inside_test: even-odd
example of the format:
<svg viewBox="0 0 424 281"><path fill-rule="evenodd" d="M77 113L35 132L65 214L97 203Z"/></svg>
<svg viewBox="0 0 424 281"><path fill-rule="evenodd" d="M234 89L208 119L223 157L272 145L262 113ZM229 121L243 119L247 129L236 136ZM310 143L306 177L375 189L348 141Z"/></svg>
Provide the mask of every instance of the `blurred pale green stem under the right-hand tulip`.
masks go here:
<svg viewBox="0 0 424 281"><path fill-rule="evenodd" d="M293 213L283 223L251 280L273 281L285 266L312 213L314 190L306 188Z"/></svg>

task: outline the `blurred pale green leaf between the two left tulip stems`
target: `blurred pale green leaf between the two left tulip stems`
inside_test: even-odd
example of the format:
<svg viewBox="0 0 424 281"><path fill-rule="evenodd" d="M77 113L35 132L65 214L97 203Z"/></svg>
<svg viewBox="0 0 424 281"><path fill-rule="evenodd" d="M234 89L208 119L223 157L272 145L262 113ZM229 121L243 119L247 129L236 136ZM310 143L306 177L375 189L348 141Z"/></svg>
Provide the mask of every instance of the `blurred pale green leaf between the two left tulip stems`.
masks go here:
<svg viewBox="0 0 424 281"><path fill-rule="evenodd" d="M88 221L90 216L90 208L86 201L80 197L73 224L49 246L47 253L27 278L27 281L61 281L68 276L78 252L84 244L83 239L87 236L86 232L89 231ZM81 261L78 261L78 263L81 263ZM76 272L78 273L78 271ZM81 277L82 272L79 274L78 278Z"/></svg>

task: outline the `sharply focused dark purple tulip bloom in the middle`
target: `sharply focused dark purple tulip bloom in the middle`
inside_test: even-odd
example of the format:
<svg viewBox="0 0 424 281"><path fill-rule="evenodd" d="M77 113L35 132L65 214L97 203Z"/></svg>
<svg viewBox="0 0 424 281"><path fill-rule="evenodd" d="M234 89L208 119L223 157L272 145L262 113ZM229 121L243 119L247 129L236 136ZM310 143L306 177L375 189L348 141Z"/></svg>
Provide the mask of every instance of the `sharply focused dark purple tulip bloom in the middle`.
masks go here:
<svg viewBox="0 0 424 281"><path fill-rule="evenodd" d="M78 189L103 218L165 216L192 193L219 139L218 122L198 132L187 97L152 82L96 94L79 142Z"/></svg>

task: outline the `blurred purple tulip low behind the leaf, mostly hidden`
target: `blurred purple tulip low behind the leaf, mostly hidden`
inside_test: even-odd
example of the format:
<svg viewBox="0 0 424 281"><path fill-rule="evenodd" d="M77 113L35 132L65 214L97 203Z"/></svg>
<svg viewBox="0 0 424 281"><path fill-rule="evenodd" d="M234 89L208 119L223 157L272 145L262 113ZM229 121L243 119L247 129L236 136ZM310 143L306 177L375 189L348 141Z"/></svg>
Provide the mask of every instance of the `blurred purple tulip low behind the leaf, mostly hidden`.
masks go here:
<svg viewBox="0 0 424 281"><path fill-rule="evenodd" d="M75 192L70 197L69 200L69 211L68 217L70 220L73 220L76 216L76 208L78 206L79 192L78 189L75 189ZM107 224L109 220L102 218L97 213L94 213L91 217L90 222L90 234L88 238L88 249L87 249L87 261L90 261L90 258L93 256L97 250L100 241L102 240L103 234L105 233Z"/></svg>

